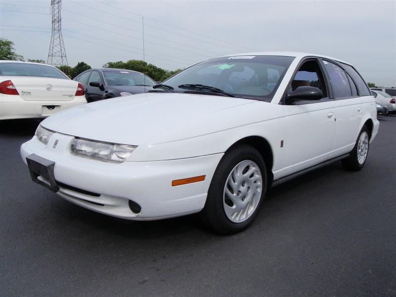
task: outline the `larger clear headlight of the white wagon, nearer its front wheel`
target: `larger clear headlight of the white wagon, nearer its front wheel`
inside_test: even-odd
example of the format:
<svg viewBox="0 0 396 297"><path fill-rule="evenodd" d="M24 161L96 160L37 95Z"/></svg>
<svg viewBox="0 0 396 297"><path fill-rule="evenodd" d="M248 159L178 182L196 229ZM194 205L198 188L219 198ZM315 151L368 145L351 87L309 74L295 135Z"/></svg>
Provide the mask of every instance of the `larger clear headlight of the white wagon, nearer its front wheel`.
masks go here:
<svg viewBox="0 0 396 297"><path fill-rule="evenodd" d="M70 152L74 155L107 162L125 162L137 146L116 145L93 140L75 138Z"/></svg>

